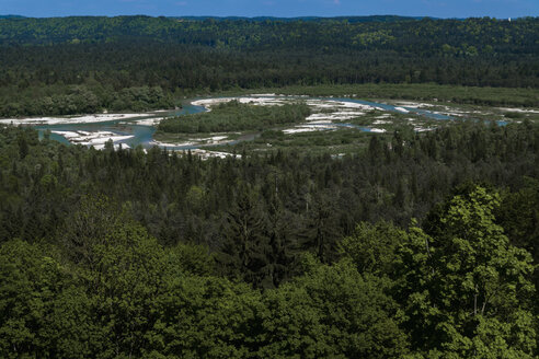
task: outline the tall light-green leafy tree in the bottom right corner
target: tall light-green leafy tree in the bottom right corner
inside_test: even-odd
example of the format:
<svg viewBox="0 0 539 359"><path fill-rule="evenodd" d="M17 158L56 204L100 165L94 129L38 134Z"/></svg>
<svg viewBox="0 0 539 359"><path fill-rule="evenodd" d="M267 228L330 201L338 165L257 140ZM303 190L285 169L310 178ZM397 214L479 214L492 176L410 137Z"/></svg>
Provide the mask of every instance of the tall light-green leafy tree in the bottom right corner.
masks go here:
<svg viewBox="0 0 539 359"><path fill-rule="evenodd" d="M496 194L482 187L455 196L431 238L412 229L398 259L395 296L412 345L431 356L531 358L531 257L512 246L494 221ZM428 335L425 335L428 334Z"/></svg>

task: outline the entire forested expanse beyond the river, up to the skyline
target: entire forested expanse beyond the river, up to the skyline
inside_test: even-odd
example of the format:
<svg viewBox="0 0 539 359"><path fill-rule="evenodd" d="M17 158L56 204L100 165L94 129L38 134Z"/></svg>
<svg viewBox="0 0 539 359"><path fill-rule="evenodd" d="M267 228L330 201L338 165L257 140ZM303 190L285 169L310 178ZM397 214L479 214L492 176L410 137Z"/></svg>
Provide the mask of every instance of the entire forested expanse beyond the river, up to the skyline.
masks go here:
<svg viewBox="0 0 539 359"><path fill-rule="evenodd" d="M146 86L164 96L359 83L539 88L537 18L371 20L2 19L0 116L87 112L55 105L73 91L110 108L118 91ZM126 107L163 105L140 103Z"/></svg>

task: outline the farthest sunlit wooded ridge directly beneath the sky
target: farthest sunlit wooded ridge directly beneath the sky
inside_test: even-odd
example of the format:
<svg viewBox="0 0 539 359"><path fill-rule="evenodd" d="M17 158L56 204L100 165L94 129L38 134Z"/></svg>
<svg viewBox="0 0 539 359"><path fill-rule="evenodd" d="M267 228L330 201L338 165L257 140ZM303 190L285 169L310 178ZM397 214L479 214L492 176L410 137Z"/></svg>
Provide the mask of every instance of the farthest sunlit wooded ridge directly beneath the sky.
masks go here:
<svg viewBox="0 0 539 359"><path fill-rule="evenodd" d="M356 21L356 19L164 19L148 16L7 19L0 22L2 45L57 45L119 43L147 38L162 43L196 44L216 48L253 50L294 48L298 44L328 49L393 49L421 55L441 50L470 56L529 53L537 49L538 21L496 19ZM434 42L434 44L433 44ZM439 44L439 45L438 45ZM438 46L436 46L438 45ZM473 49L475 50L473 51Z"/></svg>

